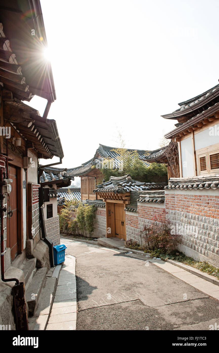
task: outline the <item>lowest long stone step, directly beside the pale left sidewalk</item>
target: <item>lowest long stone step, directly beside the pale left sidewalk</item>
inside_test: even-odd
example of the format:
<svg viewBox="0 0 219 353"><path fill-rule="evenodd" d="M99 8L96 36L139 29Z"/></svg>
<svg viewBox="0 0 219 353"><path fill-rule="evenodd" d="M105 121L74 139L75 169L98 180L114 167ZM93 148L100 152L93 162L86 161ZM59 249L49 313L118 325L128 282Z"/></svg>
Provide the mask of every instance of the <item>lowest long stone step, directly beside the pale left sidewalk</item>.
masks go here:
<svg viewBox="0 0 219 353"><path fill-rule="evenodd" d="M57 278L48 277L45 281L45 286L40 293L40 298L35 311L36 322L33 327L35 331L42 331L46 329L49 321L50 312L52 310L52 303L55 297L57 287Z"/></svg>

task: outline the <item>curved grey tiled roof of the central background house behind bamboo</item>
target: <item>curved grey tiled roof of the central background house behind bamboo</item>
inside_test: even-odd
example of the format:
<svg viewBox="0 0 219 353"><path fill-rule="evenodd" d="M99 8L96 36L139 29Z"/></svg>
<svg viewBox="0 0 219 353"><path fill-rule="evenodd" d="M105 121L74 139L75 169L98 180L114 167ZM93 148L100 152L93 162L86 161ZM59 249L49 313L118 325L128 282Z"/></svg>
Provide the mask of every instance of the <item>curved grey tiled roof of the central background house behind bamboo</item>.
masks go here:
<svg viewBox="0 0 219 353"><path fill-rule="evenodd" d="M100 144L92 159L81 164L81 166L79 167L67 169L68 174L74 175L76 177L78 175L83 175L88 173L92 169L92 166L95 166L95 164L100 161L100 158L98 156L100 156L101 158L112 158L115 161L115 168L118 168L120 155L117 152L113 151L114 149L117 149L117 148ZM126 149L126 150L131 152L135 151L134 149ZM136 151L138 152L139 158L143 160L150 152L146 150L136 150ZM149 166L149 163L147 161L144 161L144 164L147 167Z"/></svg>

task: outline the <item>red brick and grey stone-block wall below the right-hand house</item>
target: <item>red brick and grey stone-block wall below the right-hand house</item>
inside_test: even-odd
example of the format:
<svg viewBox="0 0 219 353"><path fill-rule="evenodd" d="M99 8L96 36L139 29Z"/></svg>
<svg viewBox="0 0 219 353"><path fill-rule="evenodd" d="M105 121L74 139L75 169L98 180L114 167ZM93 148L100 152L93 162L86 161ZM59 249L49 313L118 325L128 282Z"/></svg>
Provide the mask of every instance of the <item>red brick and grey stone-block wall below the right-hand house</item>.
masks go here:
<svg viewBox="0 0 219 353"><path fill-rule="evenodd" d="M219 266L219 191L167 190L165 204L172 229L181 238L179 250Z"/></svg>

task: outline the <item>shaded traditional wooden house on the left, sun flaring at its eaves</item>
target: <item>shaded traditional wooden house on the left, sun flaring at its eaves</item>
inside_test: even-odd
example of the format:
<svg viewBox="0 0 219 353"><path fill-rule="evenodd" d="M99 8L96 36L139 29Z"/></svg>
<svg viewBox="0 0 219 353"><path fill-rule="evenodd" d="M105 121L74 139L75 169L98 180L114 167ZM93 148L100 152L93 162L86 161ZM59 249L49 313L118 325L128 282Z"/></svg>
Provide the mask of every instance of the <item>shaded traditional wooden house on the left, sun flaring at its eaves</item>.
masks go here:
<svg viewBox="0 0 219 353"><path fill-rule="evenodd" d="M49 229L45 231L42 209L46 194L40 187L38 163L39 158L53 156L60 158L61 163L63 150L56 121L47 118L56 94L51 66L43 59L46 46L40 2L0 0L0 325L3 329L13 330L15 323L17 329L27 329L25 317L34 315L41 289L48 285L46 273L53 266L53 244L46 236ZM34 95L47 100L43 116L23 102L29 102ZM59 183L58 175L55 179L48 186ZM40 283L37 292L33 289L36 278ZM18 284L26 291L27 313L22 311L22 321L11 294ZM55 288L56 281L52 280L50 285Z"/></svg>

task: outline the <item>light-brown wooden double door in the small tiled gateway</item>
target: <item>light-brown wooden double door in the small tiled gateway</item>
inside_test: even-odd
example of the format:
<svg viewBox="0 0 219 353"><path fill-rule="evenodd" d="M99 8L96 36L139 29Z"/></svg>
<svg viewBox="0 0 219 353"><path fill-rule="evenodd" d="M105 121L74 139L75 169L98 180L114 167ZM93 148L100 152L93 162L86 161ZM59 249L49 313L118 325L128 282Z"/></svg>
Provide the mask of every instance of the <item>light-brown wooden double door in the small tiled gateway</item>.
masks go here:
<svg viewBox="0 0 219 353"><path fill-rule="evenodd" d="M125 205L106 202L106 221L108 236L126 240Z"/></svg>

